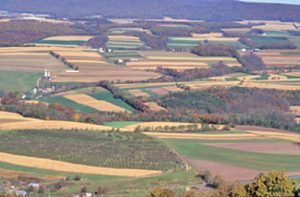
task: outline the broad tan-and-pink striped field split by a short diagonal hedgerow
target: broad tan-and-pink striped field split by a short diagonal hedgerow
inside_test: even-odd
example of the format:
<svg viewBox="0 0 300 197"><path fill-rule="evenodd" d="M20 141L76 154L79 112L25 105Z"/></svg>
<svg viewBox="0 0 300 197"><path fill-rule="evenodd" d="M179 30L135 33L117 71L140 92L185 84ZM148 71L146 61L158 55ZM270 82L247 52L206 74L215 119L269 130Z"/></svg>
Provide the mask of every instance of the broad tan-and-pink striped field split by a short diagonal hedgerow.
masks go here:
<svg viewBox="0 0 300 197"><path fill-rule="evenodd" d="M49 52L60 54L79 67L79 72L69 72ZM51 72L54 82L97 82L100 80L145 80L159 77L152 72L132 70L109 64L96 51L81 46L36 46L0 48L0 70Z"/></svg>

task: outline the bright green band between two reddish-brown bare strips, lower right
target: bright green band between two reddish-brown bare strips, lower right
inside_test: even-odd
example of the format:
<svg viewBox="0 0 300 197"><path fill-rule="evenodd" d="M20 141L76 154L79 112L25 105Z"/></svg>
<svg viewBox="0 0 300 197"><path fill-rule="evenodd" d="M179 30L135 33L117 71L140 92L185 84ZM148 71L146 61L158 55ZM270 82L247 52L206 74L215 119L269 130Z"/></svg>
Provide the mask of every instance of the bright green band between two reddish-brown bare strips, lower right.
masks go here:
<svg viewBox="0 0 300 197"><path fill-rule="evenodd" d="M257 170L300 170L297 155L267 154L217 148L198 140L163 140L180 155L191 159L237 165Z"/></svg>

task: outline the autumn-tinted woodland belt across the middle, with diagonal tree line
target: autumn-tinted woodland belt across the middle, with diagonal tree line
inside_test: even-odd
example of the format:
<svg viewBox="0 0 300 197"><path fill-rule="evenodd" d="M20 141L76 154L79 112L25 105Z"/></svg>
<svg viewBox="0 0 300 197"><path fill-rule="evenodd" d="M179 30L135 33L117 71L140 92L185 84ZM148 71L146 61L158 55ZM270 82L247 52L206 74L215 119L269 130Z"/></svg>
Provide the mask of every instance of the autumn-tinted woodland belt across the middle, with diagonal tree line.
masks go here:
<svg viewBox="0 0 300 197"><path fill-rule="evenodd" d="M248 88L211 88L208 90L171 93L156 99L168 112L151 112L141 99L130 97L108 82L101 82L116 98L137 113L79 113L60 104L25 104L15 94L2 93L1 109L26 117L71 120L102 124L110 121L178 121L205 124L256 125L300 131L300 125L289 106L300 105L300 91L278 91Z"/></svg>

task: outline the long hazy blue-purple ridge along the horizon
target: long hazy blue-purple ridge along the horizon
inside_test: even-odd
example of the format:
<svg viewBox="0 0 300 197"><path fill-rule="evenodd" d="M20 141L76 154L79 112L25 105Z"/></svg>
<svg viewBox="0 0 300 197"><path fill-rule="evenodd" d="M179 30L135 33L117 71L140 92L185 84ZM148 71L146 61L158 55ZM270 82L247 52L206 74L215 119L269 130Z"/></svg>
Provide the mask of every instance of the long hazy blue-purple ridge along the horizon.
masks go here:
<svg viewBox="0 0 300 197"><path fill-rule="evenodd" d="M0 10L58 17L174 18L214 21L264 19L300 21L300 5L235 0L1 0Z"/></svg>

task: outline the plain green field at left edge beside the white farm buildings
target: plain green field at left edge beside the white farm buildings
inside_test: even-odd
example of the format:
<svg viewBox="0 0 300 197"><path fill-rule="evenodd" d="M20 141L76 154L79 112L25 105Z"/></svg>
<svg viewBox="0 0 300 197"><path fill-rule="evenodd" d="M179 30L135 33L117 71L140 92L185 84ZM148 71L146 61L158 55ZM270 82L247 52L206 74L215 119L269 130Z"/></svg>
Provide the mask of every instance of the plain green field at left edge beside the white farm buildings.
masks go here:
<svg viewBox="0 0 300 197"><path fill-rule="evenodd" d="M0 90L29 91L33 90L42 73L23 71L0 71Z"/></svg>

